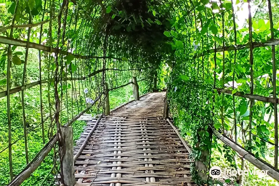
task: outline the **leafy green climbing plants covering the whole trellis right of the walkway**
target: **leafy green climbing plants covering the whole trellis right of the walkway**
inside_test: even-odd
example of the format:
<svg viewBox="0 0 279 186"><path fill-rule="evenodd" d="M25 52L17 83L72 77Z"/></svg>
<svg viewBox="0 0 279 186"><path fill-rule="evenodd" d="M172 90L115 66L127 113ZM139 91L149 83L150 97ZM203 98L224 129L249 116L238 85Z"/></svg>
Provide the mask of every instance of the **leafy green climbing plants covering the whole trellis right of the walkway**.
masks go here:
<svg viewBox="0 0 279 186"><path fill-rule="evenodd" d="M275 24L270 21L270 12L277 14L271 4L276 6L276 2L270 1L189 1L170 20L172 29L164 32L175 50L175 60L169 64L171 110L182 133L191 136L193 158L202 160L206 166L210 161L202 158L202 152L218 147L211 143L216 141L214 138L208 138L205 131L209 129L223 133L277 169L277 109L266 101L269 98L264 98L278 93L272 83L278 81L275 72L278 48L268 47L278 44L272 40L278 37L279 25L274 21L277 17L273 18ZM249 6L259 7L254 15ZM268 11L261 11L262 7ZM238 12L243 8L247 10L241 12L246 24L237 25ZM245 93L263 98L247 97ZM201 131L206 134L204 139L200 138ZM197 147L198 139L208 145ZM273 155L266 158L270 153ZM227 157L231 162L231 157ZM196 173L195 179L201 176Z"/></svg>

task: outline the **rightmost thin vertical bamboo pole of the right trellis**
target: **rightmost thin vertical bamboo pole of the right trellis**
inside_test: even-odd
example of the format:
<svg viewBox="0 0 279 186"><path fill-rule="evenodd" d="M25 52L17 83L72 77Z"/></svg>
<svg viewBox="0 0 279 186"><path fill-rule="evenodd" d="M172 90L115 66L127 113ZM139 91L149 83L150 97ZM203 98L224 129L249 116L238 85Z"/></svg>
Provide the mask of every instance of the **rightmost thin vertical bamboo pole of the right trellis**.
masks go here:
<svg viewBox="0 0 279 186"><path fill-rule="evenodd" d="M271 10L271 1L268 0L268 13L270 22L270 33L271 39L274 39L273 31L273 19ZM277 118L277 96L276 96L276 58L275 58L275 46L271 46L272 51L272 82L273 82L273 98L274 98L274 144L275 144L275 155L274 155L274 168L278 170L278 118Z"/></svg>

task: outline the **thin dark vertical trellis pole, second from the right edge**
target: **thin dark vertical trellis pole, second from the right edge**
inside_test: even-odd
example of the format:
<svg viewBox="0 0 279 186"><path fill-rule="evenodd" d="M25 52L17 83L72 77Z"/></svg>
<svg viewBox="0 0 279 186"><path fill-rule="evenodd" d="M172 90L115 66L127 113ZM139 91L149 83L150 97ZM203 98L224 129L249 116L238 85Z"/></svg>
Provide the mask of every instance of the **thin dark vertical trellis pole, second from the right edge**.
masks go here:
<svg viewBox="0 0 279 186"><path fill-rule="evenodd" d="M253 94L254 92L254 78L253 78L253 39L252 39L252 16L251 16L251 5L250 0L248 2L248 24L249 24L249 44L250 44L250 80L251 80L251 87L250 93ZM252 107L253 107L253 99L250 99L250 115L249 115L249 152L251 152L251 144L252 144L252 136L251 136L251 129L252 129Z"/></svg>

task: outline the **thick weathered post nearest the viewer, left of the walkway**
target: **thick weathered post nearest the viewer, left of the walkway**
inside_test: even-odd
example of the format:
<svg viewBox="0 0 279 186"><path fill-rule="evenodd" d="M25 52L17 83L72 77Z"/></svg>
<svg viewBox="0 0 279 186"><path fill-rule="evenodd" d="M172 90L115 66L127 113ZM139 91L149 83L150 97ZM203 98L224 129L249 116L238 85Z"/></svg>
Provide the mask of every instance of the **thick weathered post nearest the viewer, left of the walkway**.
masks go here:
<svg viewBox="0 0 279 186"><path fill-rule="evenodd" d="M61 131L64 139L64 156L62 160L64 184L74 186L76 179L73 166L73 128L61 127Z"/></svg>

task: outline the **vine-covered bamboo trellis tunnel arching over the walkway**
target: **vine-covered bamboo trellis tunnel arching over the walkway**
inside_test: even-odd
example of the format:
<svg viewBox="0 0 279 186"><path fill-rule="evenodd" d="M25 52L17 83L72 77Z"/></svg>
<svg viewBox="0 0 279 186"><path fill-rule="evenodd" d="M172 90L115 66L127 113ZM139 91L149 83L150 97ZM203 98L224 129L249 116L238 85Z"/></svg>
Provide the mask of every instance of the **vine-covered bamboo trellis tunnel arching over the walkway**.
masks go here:
<svg viewBox="0 0 279 186"><path fill-rule="evenodd" d="M14 144L21 140L31 165L42 154L30 150L32 131L40 133L46 149L48 139L59 136L60 127L75 116L89 108L102 112L104 82L115 90L132 76L142 80L142 92L157 89L153 78L158 88L167 85L171 116L190 136L192 157L205 170L212 149L220 149L221 133L278 172L277 0L7 0L0 5L0 96L7 106L1 153L9 161L10 181L25 166L13 165ZM30 104L28 94L38 95L39 107ZM15 122L15 115L22 121ZM63 146L57 141L53 162ZM238 168L235 153L223 148ZM56 165L52 170L59 172ZM192 174L197 183L206 182L197 164Z"/></svg>

